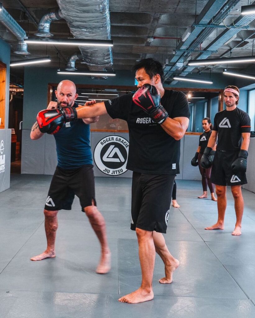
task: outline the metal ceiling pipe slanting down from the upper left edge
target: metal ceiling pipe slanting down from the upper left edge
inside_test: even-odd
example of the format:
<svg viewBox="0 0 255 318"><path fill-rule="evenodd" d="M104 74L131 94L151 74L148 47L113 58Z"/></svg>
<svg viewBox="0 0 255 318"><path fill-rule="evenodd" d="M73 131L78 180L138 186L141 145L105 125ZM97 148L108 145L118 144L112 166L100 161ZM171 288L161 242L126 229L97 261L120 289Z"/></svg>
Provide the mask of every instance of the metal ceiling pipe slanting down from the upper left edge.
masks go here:
<svg viewBox="0 0 255 318"><path fill-rule="evenodd" d="M29 55L30 53L27 51L27 44L24 43L24 38L26 36L26 32L22 29L22 27L11 17L11 15L2 7L0 10L0 22L4 24L4 26L11 31L12 34L16 36L18 41L18 48L14 52L16 54Z"/></svg>

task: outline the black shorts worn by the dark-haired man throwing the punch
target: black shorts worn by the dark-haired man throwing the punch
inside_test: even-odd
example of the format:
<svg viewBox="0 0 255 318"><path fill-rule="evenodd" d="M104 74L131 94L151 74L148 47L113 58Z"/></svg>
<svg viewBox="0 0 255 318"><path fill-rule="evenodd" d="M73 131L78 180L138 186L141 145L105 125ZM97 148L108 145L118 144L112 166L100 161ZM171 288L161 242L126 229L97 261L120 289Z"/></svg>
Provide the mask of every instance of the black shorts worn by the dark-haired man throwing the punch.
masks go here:
<svg viewBox="0 0 255 318"><path fill-rule="evenodd" d="M131 230L166 233L174 178L133 172Z"/></svg>

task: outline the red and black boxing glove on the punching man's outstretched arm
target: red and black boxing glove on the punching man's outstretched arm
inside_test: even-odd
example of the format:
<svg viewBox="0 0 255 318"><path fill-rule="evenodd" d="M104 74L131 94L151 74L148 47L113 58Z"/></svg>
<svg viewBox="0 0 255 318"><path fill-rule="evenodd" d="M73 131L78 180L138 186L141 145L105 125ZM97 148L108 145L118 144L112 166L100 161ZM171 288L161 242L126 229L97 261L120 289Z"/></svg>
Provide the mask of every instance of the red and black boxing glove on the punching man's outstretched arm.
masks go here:
<svg viewBox="0 0 255 318"><path fill-rule="evenodd" d="M41 133L56 134L68 121L75 120L77 112L74 107L41 110L37 117L38 128Z"/></svg>

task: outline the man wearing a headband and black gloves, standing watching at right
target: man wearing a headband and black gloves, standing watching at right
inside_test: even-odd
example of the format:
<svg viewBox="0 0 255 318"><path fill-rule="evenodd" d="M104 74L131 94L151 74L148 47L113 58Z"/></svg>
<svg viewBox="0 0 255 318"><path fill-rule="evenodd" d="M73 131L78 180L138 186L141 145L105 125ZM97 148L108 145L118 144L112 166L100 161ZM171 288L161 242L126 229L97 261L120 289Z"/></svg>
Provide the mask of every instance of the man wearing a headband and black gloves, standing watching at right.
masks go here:
<svg viewBox="0 0 255 318"><path fill-rule="evenodd" d="M218 197L218 220L216 224L206 227L205 230L223 230L224 216L227 206L226 186L231 186L235 200L236 225L232 235L241 235L241 222L244 211L244 200L241 185L247 183L246 166L248 147L251 134L251 119L243 110L237 108L239 89L236 86L227 86L224 89L226 109L214 117L214 126L201 158L201 166L209 168L212 165L211 181L216 185ZM212 148L216 145L216 153Z"/></svg>

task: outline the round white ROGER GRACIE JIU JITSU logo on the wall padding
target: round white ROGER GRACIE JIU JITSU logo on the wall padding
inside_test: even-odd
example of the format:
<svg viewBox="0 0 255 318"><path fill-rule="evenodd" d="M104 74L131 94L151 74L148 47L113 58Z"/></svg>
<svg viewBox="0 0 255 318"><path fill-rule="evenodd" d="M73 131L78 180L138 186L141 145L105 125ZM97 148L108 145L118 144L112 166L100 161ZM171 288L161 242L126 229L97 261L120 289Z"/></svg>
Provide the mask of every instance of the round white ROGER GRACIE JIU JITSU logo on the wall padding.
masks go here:
<svg viewBox="0 0 255 318"><path fill-rule="evenodd" d="M127 171L129 142L120 136L101 139L94 150L94 161L99 170L109 176L118 176Z"/></svg>

